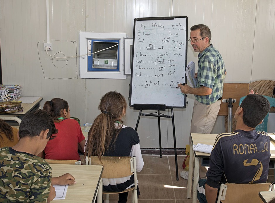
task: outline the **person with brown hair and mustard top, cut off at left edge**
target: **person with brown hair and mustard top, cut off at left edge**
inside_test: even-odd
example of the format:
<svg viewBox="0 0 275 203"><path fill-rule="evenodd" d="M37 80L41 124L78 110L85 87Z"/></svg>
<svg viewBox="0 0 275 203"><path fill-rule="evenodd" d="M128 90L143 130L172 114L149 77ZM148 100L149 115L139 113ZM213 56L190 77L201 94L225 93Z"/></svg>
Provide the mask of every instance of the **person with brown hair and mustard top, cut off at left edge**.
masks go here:
<svg viewBox="0 0 275 203"><path fill-rule="evenodd" d="M13 147L18 143L18 129L13 128L8 123L0 119L0 148Z"/></svg>

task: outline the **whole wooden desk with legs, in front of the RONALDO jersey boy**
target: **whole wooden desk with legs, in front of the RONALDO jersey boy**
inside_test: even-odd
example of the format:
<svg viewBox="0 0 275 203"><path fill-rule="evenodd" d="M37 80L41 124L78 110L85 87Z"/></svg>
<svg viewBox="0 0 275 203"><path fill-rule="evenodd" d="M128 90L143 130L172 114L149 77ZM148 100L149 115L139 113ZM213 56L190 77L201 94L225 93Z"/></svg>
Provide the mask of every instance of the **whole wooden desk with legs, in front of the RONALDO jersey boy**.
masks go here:
<svg viewBox="0 0 275 203"><path fill-rule="evenodd" d="M273 133L269 133L270 138L274 137ZM199 182L199 170L200 170L200 158L209 158L210 154L203 152L196 152L193 150L193 144L209 144L214 145L217 134L200 134L200 133L191 133L191 142L190 142L190 159L189 159L189 172L188 172L188 184L187 184L187 198L191 198L191 187L192 187L192 176L193 176L193 164L194 166L194 182L193 182L193 199L192 202L197 202L197 185ZM271 140L270 139L270 140ZM270 153L271 160L275 160L275 146L274 142L270 142Z"/></svg>

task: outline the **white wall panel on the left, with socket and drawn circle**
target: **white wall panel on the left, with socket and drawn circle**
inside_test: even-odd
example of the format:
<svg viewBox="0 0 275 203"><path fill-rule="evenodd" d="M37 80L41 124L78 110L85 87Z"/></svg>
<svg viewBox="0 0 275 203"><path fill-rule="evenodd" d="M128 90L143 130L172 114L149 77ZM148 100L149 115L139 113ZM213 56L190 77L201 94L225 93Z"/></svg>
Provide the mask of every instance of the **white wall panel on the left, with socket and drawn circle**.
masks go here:
<svg viewBox="0 0 275 203"><path fill-rule="evenodd" d="M55 40L78 43L78 32L81 27L85 27L85 13L82 12L85 1L49 2L50 40L53 44L53 51L50 54L59 51L66 53L66 43L57 46ZM54 78L56 75L63 75L66 78L73 74L75 79L45 79L43 75L41 66L43 59L41 57L39 59L38 55L38 51L42 51L42 48L38 47L38 44L47 40L46 1L4 0L0 1L0 7L2 72L6 75L3 77L3 83L23 85L22 95L42 96L44 97L42 105L54 97L66 99L70 105L71 115L85 121L85 80L78 80L77 61L74 59L74 66L67 67L66 70L53 67L50 62L44 64L47 65L44 68L51 69L49 78ZM74 55L77 51L75 48Z"/></svg>

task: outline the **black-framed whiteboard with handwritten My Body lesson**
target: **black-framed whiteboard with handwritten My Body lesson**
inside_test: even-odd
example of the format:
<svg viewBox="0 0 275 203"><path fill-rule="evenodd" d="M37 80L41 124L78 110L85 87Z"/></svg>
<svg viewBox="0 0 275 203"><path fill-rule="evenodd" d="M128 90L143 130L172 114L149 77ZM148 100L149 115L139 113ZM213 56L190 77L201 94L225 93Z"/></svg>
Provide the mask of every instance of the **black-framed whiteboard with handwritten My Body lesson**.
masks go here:
<svg viewBox="0 0 275 203"><path fill-rule="evenodd" d="M176 88L186 83L188 18L135 18L130 106L165 104L185 108L186 95Z"/></svg>

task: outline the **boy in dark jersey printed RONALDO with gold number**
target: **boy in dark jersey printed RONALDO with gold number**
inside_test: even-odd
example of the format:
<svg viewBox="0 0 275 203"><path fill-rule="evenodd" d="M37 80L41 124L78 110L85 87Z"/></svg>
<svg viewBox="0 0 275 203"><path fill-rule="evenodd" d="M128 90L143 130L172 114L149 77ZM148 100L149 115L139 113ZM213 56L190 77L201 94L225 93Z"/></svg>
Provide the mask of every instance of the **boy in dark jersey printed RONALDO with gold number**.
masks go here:
<svg viewBox="0 0 275 203"><path fill-rule="evenodd" d="M253 93L253 91L252 91ZM255 128L270 109L258 94L245 97L235 113L236 130L216 137L210 155L207 179L198 183L198 200L216 202L220 183L266 183L270 159L270 139Z"/></svg>

